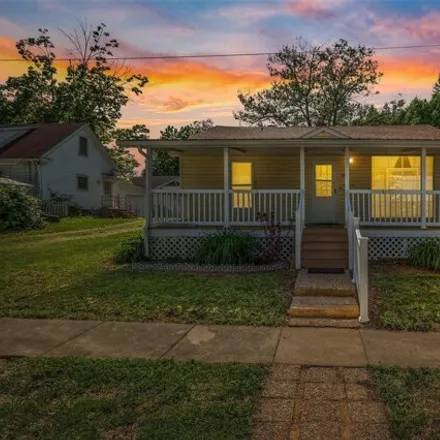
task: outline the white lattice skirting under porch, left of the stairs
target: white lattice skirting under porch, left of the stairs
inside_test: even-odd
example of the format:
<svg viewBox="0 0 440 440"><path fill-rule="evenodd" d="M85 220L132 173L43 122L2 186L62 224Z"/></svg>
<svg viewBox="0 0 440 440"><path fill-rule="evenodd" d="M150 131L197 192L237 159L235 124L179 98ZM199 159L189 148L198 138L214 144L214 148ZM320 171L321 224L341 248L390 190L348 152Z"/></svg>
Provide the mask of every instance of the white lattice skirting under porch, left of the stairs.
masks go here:
<svg viewBox="0 0 440 440"><path fill-rule="evenodd" d="M267 240L264 237L256 237L264 250ZM153 260L185 260L191 261L200 245L201 236L193 237L150 237L150 257ZM282 237L281 261L290 261L294 249L293 237Z"/></svg>

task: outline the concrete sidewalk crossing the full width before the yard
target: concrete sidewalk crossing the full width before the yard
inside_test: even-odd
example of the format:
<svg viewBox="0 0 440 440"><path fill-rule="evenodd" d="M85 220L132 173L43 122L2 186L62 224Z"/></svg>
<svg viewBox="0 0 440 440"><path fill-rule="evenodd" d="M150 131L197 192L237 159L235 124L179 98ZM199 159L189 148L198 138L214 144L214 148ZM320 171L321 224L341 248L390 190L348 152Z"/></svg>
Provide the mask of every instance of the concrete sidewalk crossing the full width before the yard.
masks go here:
<svg viewBox="0 0 440 440"><path fill-rule="evenodd" d="M440 368L440 333L0 318L0 357Z"/></svg>

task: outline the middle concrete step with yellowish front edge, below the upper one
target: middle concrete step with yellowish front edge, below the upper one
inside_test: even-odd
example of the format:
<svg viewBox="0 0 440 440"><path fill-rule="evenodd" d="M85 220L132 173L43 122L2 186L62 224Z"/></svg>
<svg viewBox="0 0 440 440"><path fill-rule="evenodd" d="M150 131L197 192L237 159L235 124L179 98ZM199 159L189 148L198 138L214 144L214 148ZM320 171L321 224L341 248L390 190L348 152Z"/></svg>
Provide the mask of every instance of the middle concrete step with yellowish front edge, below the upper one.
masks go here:
<svg viewBox="0 0 440 440"><path fill-rule="evenodd" d="M287 313L295 318L355 319L359 305L353 297L294 296Z"/></svg>

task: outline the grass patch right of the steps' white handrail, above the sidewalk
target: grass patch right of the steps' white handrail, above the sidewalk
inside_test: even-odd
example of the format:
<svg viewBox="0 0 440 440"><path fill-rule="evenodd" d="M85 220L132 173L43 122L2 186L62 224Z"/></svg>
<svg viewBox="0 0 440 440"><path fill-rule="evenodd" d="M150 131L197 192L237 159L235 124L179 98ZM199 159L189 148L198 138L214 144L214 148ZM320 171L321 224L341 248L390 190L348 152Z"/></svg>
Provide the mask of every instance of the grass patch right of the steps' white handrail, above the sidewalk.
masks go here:
<svg viewBox="0 0 440 440"><path fill-rule="evenodd" d="M429 331L440 328L440 275L408 266L399 270L374 268L371 284L377 291L379 324L394 330Z"/></svg>

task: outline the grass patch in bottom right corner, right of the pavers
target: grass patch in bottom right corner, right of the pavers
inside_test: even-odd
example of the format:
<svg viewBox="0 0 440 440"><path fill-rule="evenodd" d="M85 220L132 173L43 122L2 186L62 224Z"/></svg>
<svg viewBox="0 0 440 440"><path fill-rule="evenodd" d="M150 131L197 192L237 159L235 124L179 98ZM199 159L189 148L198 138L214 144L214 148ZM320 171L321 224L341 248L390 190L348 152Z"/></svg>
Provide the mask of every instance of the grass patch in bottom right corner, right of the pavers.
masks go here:
<svg viewBox="0 0 440 440"><path fill-rule="evenodd" d="M373 372L395 438L440 439L440 369L375 367Z"/></svg>

